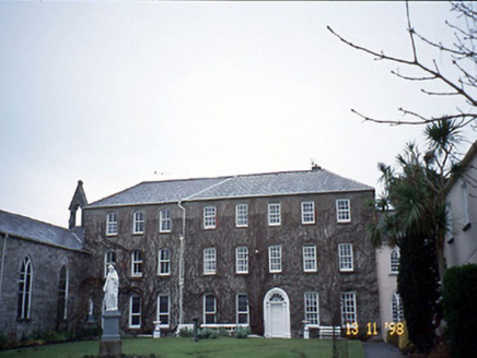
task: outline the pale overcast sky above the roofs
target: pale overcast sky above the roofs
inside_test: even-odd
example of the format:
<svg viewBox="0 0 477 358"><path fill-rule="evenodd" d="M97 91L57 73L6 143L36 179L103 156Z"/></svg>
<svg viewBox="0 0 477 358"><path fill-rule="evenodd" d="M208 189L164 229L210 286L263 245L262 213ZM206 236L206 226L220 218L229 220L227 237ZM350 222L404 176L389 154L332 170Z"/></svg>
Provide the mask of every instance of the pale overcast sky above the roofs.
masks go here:
<svg viewBox="0 0 477 358"><path fill-rule="evenodd" d="M418 31L452 40L446 2L410 7ZM376 187L377 163L423 128L364 123L350 109L439 115L455 99L419 95L328 25L410 56L398 1L0 2L0 208L66 226L79 179L93 202L144 180L311 159Z"/></svg>

